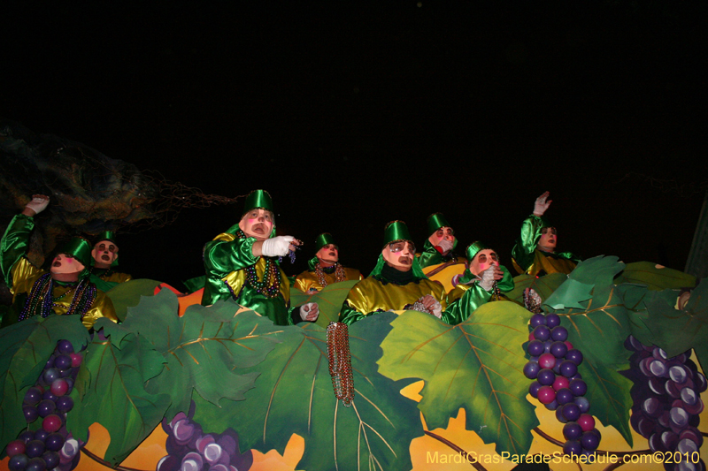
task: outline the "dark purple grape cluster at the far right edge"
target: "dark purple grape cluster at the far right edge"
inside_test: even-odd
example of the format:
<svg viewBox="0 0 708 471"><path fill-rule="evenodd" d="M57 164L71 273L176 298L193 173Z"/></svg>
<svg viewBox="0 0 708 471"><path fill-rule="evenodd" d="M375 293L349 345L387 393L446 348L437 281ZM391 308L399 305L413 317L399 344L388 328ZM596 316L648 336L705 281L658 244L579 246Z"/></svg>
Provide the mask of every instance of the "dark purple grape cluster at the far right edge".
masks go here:
<svg viewBox="0 0 708 471"><path fill-rule="evenodd" d="M649 440L652 452L673 453L676 462L665 462L667 471L705 470L698 414L704 408L700 394L708 383L689 358L690 350L668 358L658 346L645 346L631 335L625 347L633 352L630 369L624 372L634 382L632 427Z"/></svg>

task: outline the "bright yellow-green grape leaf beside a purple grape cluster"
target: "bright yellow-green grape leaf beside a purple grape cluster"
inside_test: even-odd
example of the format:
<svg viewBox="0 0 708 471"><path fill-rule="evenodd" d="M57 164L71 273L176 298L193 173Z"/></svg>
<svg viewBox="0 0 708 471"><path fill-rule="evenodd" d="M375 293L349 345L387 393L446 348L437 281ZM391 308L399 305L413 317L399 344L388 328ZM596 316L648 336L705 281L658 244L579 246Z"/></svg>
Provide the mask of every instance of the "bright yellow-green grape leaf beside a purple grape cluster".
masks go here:
<svg viewBox="0 0 708 471"><path fill-rule="evenodd" d="M508 301L488 302L455 326L408 311L381 344L380 372L425 380L419 409L429 429L447 427L464 407L466 429L499 453L525 454L538 425L523 374L530 316Z"/></svg>

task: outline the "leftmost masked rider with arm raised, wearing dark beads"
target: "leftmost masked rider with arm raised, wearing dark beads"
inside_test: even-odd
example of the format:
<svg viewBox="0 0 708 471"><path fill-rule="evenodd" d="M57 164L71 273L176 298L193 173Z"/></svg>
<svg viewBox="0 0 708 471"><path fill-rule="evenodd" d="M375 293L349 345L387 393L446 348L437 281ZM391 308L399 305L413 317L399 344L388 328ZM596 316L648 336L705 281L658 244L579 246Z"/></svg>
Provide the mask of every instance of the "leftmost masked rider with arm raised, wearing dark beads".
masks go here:
<svg viewBox="0 0 708 471"><path fill-rule="evenodd" d="M35 228L35 215L47 208L49 196L34 194L21 214L12 218L0 241L0 267L12 292L8 323L33 315L81 315L81 323L91 329L101 317L118 322L111 299L89 280L91 245L74 237L51 262L50 271L27 260L29 237Z"/></svg>

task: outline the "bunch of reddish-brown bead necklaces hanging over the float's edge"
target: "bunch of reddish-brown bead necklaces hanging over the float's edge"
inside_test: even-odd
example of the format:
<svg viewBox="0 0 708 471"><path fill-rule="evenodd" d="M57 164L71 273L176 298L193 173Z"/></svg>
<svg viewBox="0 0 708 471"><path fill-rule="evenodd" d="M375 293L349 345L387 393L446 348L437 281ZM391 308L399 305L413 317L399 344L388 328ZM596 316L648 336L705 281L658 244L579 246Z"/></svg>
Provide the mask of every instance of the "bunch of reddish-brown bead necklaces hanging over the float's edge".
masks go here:
<svg viewBox="0 0 708 471"><path fill-rule="evenodd" d="M347 324L329 323L327 326L327 357L335 396L342 400L344 406L351 406L351 401L354 400L354 377L351 374Z"/></svg>

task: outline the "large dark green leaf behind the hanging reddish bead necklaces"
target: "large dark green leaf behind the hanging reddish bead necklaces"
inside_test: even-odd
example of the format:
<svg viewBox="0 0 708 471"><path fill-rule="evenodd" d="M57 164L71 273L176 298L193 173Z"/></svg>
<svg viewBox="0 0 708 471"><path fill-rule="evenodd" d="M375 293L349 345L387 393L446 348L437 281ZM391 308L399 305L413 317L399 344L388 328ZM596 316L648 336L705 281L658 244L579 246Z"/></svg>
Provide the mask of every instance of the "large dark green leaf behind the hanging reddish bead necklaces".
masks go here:
<svg viewBox="0 0 708 471"><path fill-rule="evenodd" d="M350 407L335 398L327 359L327 333L316 324L289 328L260 371L246 400L203 414L197 402L195 421L233 426L242 444L262 452L283 452L296 433L305 440L298 469L408 470L411 440L423 435L416 403L400 390L412 380L394 382L376 372L382 338L393 313L371 315L349 327L355 396Z"/></svg>

